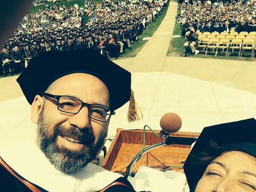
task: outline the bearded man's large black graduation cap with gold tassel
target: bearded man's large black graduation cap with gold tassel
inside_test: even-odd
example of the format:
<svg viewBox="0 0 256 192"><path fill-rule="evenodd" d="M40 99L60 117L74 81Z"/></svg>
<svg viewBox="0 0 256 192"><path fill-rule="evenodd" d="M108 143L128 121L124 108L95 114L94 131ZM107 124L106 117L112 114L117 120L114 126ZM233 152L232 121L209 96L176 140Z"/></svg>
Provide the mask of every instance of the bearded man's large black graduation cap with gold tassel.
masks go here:
<svg viewBox="0 0 256 192"><path fill-rule="evenodd" d="M42 95L53 81L81 72L99 78L106 85L112 111L130 101L128 121L143 117L131 91L131 73L93 49L42 52L30 60L30 65L17 82L27 101L32 104L35 96Z"/></svg>

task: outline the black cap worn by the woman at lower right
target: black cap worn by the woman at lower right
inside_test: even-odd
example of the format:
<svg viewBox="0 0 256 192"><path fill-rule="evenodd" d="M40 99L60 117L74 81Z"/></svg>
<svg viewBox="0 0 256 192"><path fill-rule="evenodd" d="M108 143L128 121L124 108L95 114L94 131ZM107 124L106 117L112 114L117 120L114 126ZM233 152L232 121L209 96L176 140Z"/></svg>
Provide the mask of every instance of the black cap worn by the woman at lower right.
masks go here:
<svg viewBox="0 0 256 192"><path fill-rule="evenodd" d="M210 144L212 141L222 149L242 151L256 157L255 133L256 120L254 118L203 128L184 164L190 192L194 192L197 182L210 163L195 162L199 159L197 157L216 153Z"/></svg>

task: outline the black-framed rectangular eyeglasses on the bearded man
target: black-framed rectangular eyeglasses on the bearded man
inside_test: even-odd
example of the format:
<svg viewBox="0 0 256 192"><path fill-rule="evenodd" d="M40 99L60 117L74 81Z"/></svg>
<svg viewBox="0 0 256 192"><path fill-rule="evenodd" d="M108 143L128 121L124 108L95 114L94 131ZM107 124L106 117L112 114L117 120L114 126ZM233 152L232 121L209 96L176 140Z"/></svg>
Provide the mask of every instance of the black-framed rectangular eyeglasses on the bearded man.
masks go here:
<svg viewBox="0 0 256 192"><path fill-rule="evenodd" d="M110 111L110 109L104 105L84 103L70 96L53 95L49 93L43 93L43 96L56 99L58 101L58 110L65 113L77 114L82 107L86 106L89 109L89 117L102 122L108 121L110 116L115 114L115 111Z"/></svg>

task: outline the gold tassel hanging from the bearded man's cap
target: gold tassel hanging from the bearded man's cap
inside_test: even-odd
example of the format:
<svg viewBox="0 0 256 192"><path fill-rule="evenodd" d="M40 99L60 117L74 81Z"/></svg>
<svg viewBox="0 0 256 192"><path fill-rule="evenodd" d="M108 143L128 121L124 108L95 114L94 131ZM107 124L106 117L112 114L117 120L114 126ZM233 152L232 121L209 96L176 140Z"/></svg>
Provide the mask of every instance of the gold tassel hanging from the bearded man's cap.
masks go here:
<svg viewBox="0 0 256 192"><path fill-rule="evenodd" d="M143 118L143 114L141 112L140 107L135 102L134 93L131 90L131 98L130 98L127 120L129 123L132 123L132 122L135 122L135 120L140 120L142 118Z"/></svg>

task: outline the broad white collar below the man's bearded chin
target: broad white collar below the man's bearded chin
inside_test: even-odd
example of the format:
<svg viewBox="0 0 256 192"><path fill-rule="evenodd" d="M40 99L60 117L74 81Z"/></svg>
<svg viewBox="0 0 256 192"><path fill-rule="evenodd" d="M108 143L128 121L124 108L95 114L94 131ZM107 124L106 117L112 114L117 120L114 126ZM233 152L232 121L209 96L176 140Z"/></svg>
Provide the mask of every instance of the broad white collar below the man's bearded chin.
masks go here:
<svg viewBox="0 0 256 192"><path fill-rule="evenodd" d="M50 192L95 192L121 177L93 163L67 175L49 162L35 140L8 148L0 156L20 176Z"/></svg>

